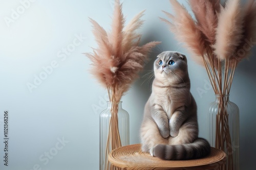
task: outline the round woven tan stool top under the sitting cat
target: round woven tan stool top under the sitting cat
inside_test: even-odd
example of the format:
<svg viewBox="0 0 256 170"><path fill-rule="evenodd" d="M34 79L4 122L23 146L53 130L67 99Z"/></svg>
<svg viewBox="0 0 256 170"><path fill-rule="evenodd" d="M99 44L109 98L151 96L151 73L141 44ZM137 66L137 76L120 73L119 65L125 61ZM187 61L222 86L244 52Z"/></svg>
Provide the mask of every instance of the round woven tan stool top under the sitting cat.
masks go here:
<svg viewBox="0 0 256 170"><path fill-rule="evenodd" d="M112 169L214 170L219 169L226 161L226 154L215 148L211 148L210 155L202 159L169 161L142 152L140 147L141 144L133 144L111 151L109 161Z"/></svg>

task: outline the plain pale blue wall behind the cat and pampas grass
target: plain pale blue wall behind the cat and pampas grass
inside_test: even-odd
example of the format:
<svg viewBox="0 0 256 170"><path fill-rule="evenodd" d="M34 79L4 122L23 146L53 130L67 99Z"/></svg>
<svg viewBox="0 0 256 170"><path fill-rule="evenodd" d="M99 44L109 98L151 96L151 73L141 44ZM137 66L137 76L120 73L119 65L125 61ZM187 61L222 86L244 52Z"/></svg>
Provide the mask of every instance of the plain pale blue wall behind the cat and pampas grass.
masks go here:
<svg viewBox="0 0 256 170"><path fill-rule="evenodd" d="M122 98L123 108L130 114L130 143L139 143L143 107L151 93L151 82L142 84L142 76L153 68L154 59L162 51L187 55L200 136L207 138L207 113L215 95L207 85L204 67L191 60L158 18L165 17L161 10L172 12L169 2L121 2L127 21L146 9L145 23L138 30L143 34L141 44L162 41L151 53L140 79ZM187 6L185 1L179 2ZM0 1L0 169L98 169L99 113L106 107L107 91L89 74L90 61L82 53L97 47L88 17L110 30L114 0L37 0L27 4L24 11L20 5L18 0ZM22 14L8 27L5 18L11 18L13 10ZM76 36L82 37L81 42ZM67 47L70 52L65 54ZM239 64L230 95L240 109L240 167L245 170L255 167L255 55L253 48L249 60ZM51 64L55 67L52 70ZM39 76L44 80L37 80L29 90L28 84L34 84ZM8 167L3 161L4 110L9 110Z"/></svg>

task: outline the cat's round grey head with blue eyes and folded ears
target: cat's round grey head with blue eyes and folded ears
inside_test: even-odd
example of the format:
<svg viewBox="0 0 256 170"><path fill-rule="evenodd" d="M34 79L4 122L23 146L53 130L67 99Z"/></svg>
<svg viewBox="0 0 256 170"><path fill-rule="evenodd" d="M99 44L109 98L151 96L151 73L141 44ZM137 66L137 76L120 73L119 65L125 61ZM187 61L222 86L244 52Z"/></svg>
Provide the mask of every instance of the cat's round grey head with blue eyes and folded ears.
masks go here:
<svg viewBox="0 0 256 170"><path fill-rule="evenodd" d="M188 78L186 56L178 52L163 52L157 56L154 71L155 78L159 81L182 82Z"/></svg>

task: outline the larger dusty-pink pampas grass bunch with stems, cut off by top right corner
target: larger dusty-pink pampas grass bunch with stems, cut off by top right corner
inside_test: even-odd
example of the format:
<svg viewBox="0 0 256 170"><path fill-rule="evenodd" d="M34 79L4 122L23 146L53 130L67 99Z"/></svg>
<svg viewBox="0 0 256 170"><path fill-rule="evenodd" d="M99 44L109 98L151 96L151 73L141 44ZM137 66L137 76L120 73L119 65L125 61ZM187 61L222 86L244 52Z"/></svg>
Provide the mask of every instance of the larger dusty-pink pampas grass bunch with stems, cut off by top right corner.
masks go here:
<svg viewBox="0 0 256 170"><path fill-rule="evenodd" d="M230 72L249 56L256 41L256 2L250 0L246 6L240 0L226 0L225 5L220 0L188 0L188 3L196 20L177 0L170 0L176 15L164 11L171 21L161 20L185 44L193 59L205 65L215 93L229 92L233 77Z"/></svg>

